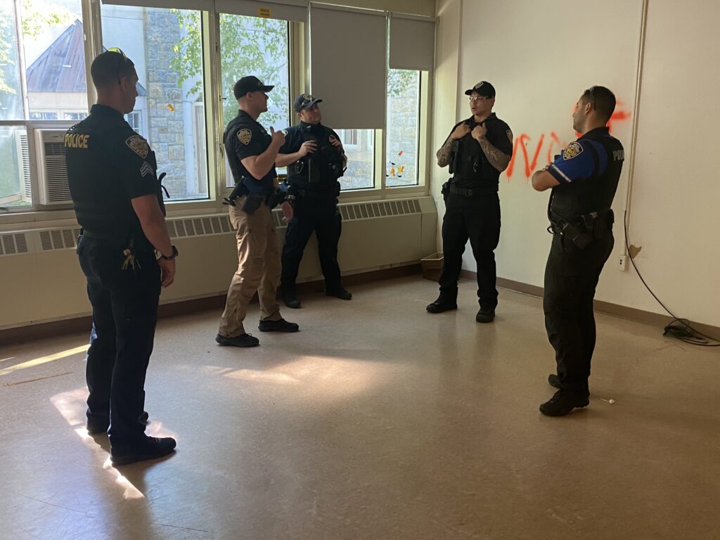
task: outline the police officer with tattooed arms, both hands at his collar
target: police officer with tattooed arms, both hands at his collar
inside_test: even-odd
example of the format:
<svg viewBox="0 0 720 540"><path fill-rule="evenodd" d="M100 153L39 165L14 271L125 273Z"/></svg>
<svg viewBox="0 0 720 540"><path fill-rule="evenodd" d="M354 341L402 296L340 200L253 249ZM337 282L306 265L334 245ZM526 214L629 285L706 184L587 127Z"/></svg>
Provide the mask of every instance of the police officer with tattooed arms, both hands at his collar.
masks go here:
<svg viewBox="0 0 720 540"><path fill-rule="evenodd" d="M437 152L438 166L453 175L443 186L443 269L431 313L457 309L457 280L469 238L477 262L478 323L491 323L498 305L495 248L500 240L498 181L513 155L513 132L492 112L495 88L481 81L465 91L472 117L455 125Z"/></svg>

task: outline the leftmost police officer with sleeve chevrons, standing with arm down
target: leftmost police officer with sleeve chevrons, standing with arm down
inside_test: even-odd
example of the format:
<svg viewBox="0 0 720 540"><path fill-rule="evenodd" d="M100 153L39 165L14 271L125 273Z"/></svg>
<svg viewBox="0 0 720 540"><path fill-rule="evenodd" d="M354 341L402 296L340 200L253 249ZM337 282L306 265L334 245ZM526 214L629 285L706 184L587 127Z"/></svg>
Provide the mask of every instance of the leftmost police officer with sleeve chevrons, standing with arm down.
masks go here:
<svg viewBox="0 0 720 540"><path fill-rule="evenodd" d="M65 136L82 228L77 253L93 312L87 428L108 431L112 462L122 465L175 448L173 438L146 436L142 420L160 290L174 280L178 251L165 225L155 153L123 119L138 96L135 66L111 50L95 58L90 73L97 104Z"/></svg>

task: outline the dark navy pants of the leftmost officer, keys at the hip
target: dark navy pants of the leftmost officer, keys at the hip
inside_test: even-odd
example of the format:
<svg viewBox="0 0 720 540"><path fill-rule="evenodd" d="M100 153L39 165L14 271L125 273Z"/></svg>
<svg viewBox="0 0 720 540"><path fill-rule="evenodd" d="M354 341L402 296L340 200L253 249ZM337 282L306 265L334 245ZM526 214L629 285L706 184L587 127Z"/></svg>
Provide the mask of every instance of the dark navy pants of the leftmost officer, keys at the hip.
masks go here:
<svg viewBox="0 0 720 540"><path fill-rule="evenodd" d="M135 270L123 270L122 247L84 235L77 253L93 316L86 360L87 415L109 415L111 444L132 444L145 432L138 417L145 408L145 372L158 320L160 267L153 251L146 249L135 254Z"/></svg>

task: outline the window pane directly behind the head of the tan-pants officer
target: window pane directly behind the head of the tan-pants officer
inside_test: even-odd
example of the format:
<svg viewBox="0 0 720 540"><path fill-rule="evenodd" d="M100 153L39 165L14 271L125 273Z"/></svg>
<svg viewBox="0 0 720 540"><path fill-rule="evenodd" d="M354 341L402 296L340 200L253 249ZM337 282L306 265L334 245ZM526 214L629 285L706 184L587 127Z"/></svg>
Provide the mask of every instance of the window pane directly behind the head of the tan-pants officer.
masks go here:
<svg viewBox="0 0 720 540"><path fill-rule="evenodd" d="M238 114L233 86L239 78L254 75L264 84L274 85L268 92L268 110L258 117L266 130L283 130L289 119L288 23L244 15L220 14L220 62L222 126ZM225 185L235 180L225 158Z"/></svg>

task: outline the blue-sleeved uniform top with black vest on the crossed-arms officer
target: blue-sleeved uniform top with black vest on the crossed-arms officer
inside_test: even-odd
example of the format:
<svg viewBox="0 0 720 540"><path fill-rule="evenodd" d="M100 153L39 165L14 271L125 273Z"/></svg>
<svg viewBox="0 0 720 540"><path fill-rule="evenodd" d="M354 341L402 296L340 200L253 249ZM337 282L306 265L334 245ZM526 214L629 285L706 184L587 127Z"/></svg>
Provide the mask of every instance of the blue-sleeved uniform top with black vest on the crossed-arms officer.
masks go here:
<svg viewBox="0 0 720 540"><path fill-rule="evenodd" d="M608 210L615 197L625 153L607 127L598 127L567 145L547 171L560 185L553 188L554 219L572 219Z"/></svg>

